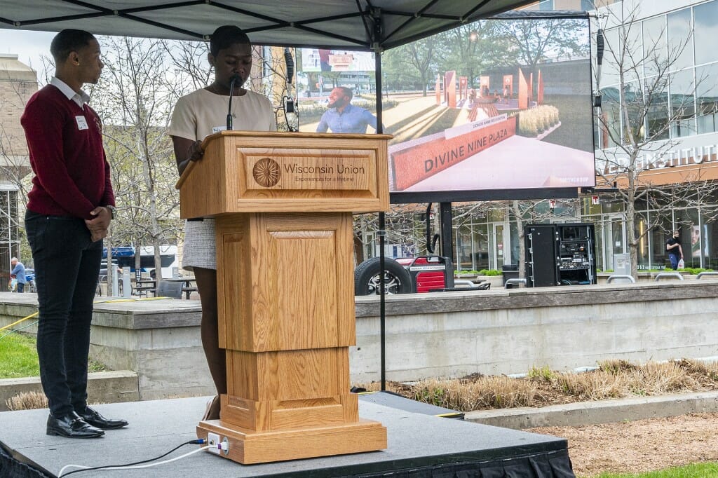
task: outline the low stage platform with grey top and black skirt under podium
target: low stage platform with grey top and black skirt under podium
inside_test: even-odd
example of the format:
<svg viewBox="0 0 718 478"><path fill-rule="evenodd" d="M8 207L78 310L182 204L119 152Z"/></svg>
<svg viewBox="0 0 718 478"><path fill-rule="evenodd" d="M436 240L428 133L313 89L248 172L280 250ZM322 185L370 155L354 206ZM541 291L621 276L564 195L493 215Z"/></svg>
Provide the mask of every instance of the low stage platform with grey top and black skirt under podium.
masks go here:
<svg viewBox="0 0 718 478"><path fill-rule="evenodd" d="M71 477L574 477L567 442L442 418L444 408L427 408L384 393L360 395L360 416L381 421L388 449L373 453L241 465L206 451L157 467L95 470ZM159 456L195 439L195 426L208 398L178 398L96 406L130 425L101 439L45 435L47 410L0 413L0 477L55 477L67 464L98 467ZM200 446L186 445L165 459ZM77 468L65 470L65 474Z"/></svg>

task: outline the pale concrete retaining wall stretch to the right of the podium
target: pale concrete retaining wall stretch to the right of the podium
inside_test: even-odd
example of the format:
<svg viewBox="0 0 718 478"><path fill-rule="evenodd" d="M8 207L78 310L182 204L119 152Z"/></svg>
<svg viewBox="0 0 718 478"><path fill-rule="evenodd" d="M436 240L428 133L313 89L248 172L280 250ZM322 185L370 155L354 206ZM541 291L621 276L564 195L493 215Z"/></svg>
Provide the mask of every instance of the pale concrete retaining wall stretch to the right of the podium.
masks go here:
<svg viewBox="0 0 718 478"><path fill-rule="evenodd" d="M572 370L718 355L717 281L564 286L386 298L386 377ZM357 297L352 378L379 376L379 301Z"/></svg>

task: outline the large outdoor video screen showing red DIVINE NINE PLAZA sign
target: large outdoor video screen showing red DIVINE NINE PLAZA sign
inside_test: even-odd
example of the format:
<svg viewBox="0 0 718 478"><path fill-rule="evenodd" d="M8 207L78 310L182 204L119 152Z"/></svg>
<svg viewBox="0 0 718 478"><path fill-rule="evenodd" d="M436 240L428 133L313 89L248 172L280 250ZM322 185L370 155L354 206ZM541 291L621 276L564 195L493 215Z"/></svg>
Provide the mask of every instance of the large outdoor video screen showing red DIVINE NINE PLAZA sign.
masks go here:
<svg viewBox="0 0 718 478"><path fill-rule="evenodd" d="M374 133L376 72L320 71L316 51L302 55L300 131ZM352 55L337 58L359 64ZM388 50L381 65L392 202L595 186L588 19L474 22Z"/></svg>

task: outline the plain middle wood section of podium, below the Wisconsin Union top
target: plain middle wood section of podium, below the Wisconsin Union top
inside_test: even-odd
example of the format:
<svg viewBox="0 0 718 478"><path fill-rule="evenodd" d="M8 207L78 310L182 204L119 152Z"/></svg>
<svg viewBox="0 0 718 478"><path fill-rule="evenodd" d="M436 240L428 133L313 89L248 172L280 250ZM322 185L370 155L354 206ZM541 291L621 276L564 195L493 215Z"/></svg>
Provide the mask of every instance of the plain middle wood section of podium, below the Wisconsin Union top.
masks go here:
<svg viewBox="0 0 718 478"><path fill-rule="evenodd" d="M227 215L216 226L220 347L355 343L350 213Z"/></svg>

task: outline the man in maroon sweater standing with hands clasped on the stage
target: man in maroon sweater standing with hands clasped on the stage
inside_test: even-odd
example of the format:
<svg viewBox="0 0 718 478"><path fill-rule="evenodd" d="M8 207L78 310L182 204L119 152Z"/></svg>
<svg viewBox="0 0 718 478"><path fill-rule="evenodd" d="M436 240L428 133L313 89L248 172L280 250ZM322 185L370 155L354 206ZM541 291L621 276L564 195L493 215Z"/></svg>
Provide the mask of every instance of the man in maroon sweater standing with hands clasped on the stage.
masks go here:
<svg viewBox="0 0 718 478"><path fill-rule="evenodd" d="M20 120L34 172L25 229L39 303L37 355L47 434L93 438L127 425L87 406L93 299L115 197L100 118L82 86L97 83L103 63L100 44L81 30L62 30L50 52L55 77Z"/></svg>

